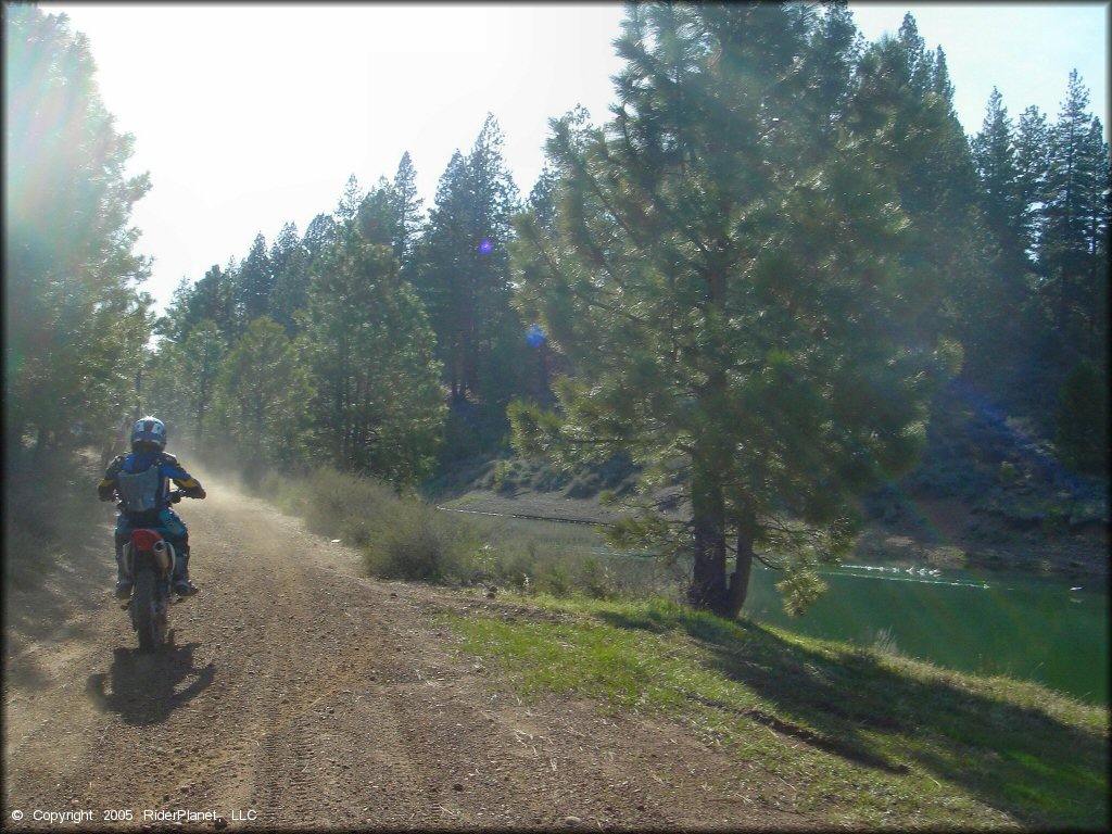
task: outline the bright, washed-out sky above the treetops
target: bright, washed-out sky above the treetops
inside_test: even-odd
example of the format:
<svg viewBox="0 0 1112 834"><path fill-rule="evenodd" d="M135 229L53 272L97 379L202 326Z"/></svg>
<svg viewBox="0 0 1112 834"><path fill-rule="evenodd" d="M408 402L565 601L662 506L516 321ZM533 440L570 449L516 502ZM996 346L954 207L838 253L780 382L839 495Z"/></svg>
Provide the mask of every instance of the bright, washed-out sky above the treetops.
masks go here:
<svg viewBox="0 0 1112 834"><path fill-rule="evenodd" d="M150 172L132 222L160 308L256 234L269 245L292 221L304 235L351 173L365 189L393 179L407 150L430 208L488 111L527 195L548 119L582 103L603 121L620 68L618 3L39 7L89 38L105 103L136 137L130 170ZM1076 68L1108 136L1108 2L851 8L871 41L911 11L927 48L942 44L966 133L993 86L1013 120L1036 105L1053 121Z"/></svg>

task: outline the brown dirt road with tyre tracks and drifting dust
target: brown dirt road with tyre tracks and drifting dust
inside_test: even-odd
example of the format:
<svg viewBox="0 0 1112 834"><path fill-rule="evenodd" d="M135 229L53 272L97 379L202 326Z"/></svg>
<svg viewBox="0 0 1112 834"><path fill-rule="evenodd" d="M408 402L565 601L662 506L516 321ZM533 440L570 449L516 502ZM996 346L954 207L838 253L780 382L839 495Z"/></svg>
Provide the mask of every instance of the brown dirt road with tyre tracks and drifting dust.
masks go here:
<svg viewBox="0 0 1112 834"><path fill-rule="evenodd" d="M360 577L354 550L199 475L210 497L180 513L202 592L171 648L139 654L111 598L107 507L46 592L9 594L6 827L814 825L678 725L499 689L440 616L513 607Z"/></svg>

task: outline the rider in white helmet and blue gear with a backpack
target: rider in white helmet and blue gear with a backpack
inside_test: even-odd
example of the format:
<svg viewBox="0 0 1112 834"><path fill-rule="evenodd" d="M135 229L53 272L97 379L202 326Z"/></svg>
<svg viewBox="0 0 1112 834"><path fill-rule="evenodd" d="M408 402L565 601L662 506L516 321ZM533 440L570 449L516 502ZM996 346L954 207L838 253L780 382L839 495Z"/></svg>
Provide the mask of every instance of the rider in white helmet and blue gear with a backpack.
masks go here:
<svg viewBox="0 0 1112 834"><path fill-rule="evenodd" d="M166 426L157 417L143 417L131 429L131 454L120 455L108 465L97 486L100 500L120 499L116 519L116 596L131 596L132 582L123 575L123 545L133 529L150 527L162 533L173 545L179 570L173 574L173 590L181 596L196 594L189 580L189 530L170 509L170 480L189 498L203 498L200 483L178 465L166 449Z"/></svg>

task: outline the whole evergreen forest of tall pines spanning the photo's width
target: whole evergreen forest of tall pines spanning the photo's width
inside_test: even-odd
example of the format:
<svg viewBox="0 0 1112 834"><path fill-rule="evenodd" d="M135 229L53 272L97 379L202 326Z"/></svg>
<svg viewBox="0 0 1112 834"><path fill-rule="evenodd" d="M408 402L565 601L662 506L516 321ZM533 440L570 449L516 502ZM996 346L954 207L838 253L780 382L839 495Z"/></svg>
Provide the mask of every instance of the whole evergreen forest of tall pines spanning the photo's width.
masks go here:
<svg viewBox="0 0 1112 834"><path fill-rule="evenodd" d="M610 111L554 113L527 191L487 115L433 205L409 153L353 173L159 314L88 42L4 27L6 484L146 413L250 477L403 494L619 461L615 544L686 555L729 616L754 559L805 607L905 493L1106 525L1110 155L1076 72L969 136L911 14L867 42L841 2L631 4Z"/></svg>

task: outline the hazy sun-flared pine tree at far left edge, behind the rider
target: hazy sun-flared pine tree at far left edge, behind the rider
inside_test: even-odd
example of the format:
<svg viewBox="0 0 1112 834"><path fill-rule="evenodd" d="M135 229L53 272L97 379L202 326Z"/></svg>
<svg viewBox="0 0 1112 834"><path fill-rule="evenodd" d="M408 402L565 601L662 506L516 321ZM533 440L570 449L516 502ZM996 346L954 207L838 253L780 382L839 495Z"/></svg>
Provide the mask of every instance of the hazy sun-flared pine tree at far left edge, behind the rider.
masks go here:
<svg viewBox="0 0 1112 834"><path fill-rule="evenodd" d="M4 7L4 416L9 451L99 441L133 400L149 274L89 44L64 14Z"/></svg>

